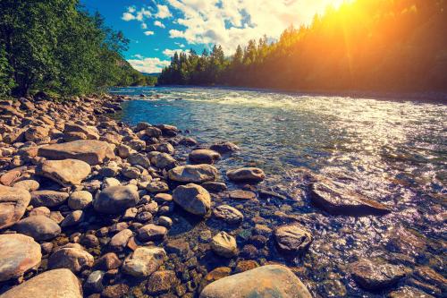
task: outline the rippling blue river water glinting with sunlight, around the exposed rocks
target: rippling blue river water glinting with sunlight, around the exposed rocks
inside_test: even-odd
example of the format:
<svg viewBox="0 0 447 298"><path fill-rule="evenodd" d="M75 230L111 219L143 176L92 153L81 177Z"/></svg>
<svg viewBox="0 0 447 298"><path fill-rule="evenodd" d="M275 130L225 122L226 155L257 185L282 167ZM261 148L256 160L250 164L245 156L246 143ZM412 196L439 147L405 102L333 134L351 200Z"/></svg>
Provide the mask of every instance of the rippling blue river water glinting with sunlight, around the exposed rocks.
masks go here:
<svg viewBox="0 0 447 298"><path fill-rule="evenodd" d="M389 292L366 292L352 281L347 265L361 257L380 257L413 269L428 266L445 276L446 105L246 89L123 88L112 93L139 99L122 103L117 117L126 123L173 124L208 145L235 142L240 152L223 158L216 167L223 173L237 166L261 167L267 179L259 187L287 197L244 203L245 220L239 227L218 226L213 220L193 225L185 220L188 227L173 231L173 236L194 243L204 228L224 229L237 235L243 250L256 223L274 228L298 218L314 235L304 257L283 259L273 245L267 245L245 259L286 264L314 294L324 297L380 297ZM147 98L139 98L141 93ZM180 149L178 155L186 153L187 149ZM392 213L330 216L309 202L303 187L306 171L344 183L389 206ZM232 203L237 205L240 202ZM416 235L422 243L419 251L405 250L405 236L392 239L398 227ZM207 271L232 266L208 259L198 258ZM442 295L430 286L438 290L443 286L423 275L410 275L401 285Z"/></svg>

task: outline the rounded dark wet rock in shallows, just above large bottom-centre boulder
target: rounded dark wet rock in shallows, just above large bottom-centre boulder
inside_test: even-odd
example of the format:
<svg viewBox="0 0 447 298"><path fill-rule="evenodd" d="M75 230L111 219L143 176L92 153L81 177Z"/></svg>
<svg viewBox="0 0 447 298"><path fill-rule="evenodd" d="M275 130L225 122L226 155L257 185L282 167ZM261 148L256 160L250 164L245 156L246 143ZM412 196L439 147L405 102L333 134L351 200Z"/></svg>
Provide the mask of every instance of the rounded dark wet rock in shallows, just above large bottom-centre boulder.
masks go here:
<svg viewBox="0 0 447 298"><path fill-rule="evenodd" d="M298 224L276 228L274 239L278 248L287 253L303 253L313 241L308 230Z"/></svg>

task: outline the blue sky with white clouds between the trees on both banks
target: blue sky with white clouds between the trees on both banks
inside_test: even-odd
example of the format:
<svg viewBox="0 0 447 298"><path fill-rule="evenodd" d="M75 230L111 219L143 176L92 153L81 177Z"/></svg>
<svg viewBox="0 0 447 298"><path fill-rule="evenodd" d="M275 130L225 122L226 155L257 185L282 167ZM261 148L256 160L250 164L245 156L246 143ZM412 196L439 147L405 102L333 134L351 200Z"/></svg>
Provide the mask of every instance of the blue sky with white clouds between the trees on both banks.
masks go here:
<svg viewBox="0 0 447 298"><path fill-rule="evenodd" d="M130 39L124 58L140 72L161 72L174 52L201 53L215 44L232 55L238 45L266 35L274 41L291 24L343 0L81 0L90 13Z"/></svg>

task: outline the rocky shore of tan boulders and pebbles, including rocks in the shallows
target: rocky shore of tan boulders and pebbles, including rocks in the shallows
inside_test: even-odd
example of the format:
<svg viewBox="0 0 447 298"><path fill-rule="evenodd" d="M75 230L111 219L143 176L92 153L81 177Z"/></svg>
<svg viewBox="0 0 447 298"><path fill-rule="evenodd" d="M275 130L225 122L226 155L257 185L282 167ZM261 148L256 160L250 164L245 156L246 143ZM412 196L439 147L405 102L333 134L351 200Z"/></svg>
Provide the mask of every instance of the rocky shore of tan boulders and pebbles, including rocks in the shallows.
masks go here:
<svg viewBox="0 0 447 298"><path fill-rule="evenodd" d="M299 268L259 258L269 250L299 258L314 242L306 220L286 209L274 213L283 219L278 226L249 212L252 202L286 199L259 187L264 171L222 173L215 162L240 150L232 142L207 148L172 125L131 127L109 117L125 100L0 102L0 297L318 297ZM328 215L392 212L325 177L305 172L303 179L312 204ZM240 226L249 234L236 233ZM401 253L426 245L401 228L392 233ZM432 294L445 290L445 278L428 267L373 258L348 267L372 293L431 297L398 287L407 277L434 284ZM328 296L346 292L337 282Z"/></svg>

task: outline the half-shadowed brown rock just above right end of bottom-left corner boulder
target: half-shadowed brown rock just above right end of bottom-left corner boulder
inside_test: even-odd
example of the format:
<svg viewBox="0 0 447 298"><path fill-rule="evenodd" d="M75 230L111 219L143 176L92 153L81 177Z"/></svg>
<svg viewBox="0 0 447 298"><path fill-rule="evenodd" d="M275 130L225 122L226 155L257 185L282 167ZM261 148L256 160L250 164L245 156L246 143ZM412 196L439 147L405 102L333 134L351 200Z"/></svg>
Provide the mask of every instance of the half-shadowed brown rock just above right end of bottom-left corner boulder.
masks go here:
<svg viewBox="0 0 447 298"><path fill-rule="evenodd" d="M59 248L48 259L48 268L67 268L77 273L93 266L93 256L79 244L67 244Z"/></svg>

